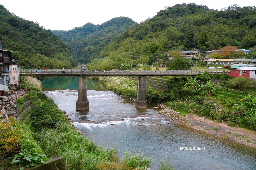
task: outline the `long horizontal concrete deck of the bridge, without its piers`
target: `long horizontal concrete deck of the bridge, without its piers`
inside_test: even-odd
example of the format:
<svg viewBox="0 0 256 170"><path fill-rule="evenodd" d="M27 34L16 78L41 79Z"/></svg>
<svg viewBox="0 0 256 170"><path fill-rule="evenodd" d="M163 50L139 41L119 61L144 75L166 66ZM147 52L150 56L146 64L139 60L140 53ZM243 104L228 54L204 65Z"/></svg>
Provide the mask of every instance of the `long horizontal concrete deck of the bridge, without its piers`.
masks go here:
<svg viewBox="0 0 256 170"><path fill-rule="evenodd" d="M39 76L190 76L202 74L205 70L166 70L166 71L153 71L153 70L40 70L36 69L21 69L21 76L39 75ZM210 73L226 74L228 71L218 70L210 71Z"/></svg>

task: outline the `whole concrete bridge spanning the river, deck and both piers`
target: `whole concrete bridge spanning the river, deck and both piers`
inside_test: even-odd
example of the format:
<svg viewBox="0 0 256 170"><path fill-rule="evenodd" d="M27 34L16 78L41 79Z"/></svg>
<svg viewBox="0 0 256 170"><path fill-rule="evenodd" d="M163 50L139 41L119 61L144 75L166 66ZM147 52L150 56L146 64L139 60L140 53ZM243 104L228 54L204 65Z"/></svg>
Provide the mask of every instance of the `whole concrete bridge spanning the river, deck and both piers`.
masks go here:
<svg viewBox="0 0 256 170"><path fill-rule="evenodd" d="M78 76L78 99L76 109L78 111L89 110L87 99L87 76L138 76L136 107L147 108L146 76L196 76L205 72L203 69L195 70L36 70L21 69L20 76ZM227 74L225 70L215 70L209 73Z"/></svg>

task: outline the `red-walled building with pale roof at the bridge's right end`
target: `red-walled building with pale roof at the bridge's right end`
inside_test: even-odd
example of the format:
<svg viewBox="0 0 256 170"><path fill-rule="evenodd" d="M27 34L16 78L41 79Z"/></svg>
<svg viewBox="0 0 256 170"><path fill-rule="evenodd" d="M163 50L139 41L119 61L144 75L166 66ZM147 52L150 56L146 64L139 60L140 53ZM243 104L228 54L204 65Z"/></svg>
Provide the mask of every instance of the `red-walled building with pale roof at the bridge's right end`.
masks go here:
<svg viewBox="0 0 256 170"><path fill-rule="evenodd" d="M246 77L247 79L256 79L256 67L244 67L239 69L231 69L231 77Z"/></svg>

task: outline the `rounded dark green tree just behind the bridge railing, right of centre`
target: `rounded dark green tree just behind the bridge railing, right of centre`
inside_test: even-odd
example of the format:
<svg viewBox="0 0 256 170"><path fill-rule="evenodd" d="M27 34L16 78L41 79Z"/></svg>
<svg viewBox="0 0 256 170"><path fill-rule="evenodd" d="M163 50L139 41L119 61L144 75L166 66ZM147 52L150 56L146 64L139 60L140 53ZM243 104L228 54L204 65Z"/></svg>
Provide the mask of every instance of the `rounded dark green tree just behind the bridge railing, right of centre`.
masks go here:
<svg viewBox="0 0 256 170"><path fill-rule="evenodd" d="M188 70L191 67L191 62L188 59L177 57L169 63L168 70Z"/></svg>

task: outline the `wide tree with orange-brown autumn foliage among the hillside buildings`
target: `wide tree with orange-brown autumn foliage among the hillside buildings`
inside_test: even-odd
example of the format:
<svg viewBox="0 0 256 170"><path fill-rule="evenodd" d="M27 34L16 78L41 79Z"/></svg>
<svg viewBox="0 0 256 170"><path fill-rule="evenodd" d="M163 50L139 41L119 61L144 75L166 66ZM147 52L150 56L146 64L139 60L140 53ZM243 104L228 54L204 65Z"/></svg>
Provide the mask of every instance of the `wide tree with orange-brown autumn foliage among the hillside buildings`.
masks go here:
<svg viewBox="0 0 256 170"><path fill-rule="evenodd" d="M243 51L235 46L226 46L210 54L209 57L213 58L237 58L242 57Z"/></svg>

